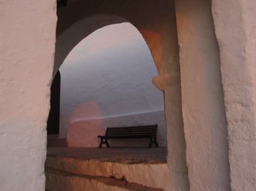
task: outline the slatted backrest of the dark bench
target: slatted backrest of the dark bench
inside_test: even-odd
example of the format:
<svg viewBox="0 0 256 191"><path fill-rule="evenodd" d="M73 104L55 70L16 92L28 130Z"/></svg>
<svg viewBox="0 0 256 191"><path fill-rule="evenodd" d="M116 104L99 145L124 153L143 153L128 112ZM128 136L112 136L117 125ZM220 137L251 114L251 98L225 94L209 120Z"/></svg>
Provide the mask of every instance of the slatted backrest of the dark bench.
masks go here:
<svg viewBox="0 0 256 191"><path fill-rule="evenodd" d="M106 135L109 136L129 136L129 135L156 135L156 129L158 125L143 125L143 126L128 126L128 127L117 127L107 128Z"/></svg>

